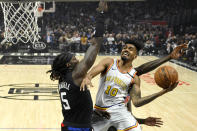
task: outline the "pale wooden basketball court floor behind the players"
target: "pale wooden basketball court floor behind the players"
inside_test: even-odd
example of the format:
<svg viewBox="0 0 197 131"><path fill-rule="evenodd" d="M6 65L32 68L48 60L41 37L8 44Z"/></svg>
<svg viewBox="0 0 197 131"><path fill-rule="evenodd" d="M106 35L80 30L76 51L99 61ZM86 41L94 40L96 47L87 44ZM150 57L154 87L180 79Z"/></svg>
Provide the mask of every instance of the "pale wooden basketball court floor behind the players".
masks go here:
<svg viewBox="0 0 197 131"><path fill-rule="evenodd" d="M98 56L95 64L104 57ZM139 56L134 66L154 59ZM179 86L143 107L132 106L133 114L139 118L161 117L164 121L160 128L142 125L143 131L196 131L197 72L171 62L165 65L176 68ZM50 65L0 65L0 131L60 131L63 117L57 81L49 79L49 69ZM90 89L93 101L98 81L96 77ZM154 82L154 71L141 76L141 83L142 96L161 90Z"/></svg>

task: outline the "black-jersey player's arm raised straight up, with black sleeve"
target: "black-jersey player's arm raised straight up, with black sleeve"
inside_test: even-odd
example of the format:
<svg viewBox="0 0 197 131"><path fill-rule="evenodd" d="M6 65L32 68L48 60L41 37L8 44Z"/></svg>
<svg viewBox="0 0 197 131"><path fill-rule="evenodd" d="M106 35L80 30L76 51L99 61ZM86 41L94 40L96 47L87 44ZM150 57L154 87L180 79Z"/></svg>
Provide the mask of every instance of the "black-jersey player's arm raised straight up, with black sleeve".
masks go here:
<svg viewBox="0 0 197 131"><path fill-rule="evenodd" d="M106 2L100 2L97 8L98 14L96 18L96 32L94 37L91 39L91 45L85 53L83 60L77 64L73 71L72 77L76 85L80 86L83 78L86 76L88 70L94 64L96 56L99 52L100 46L103 42L104 33L104 13L107 10Z"/></svg>

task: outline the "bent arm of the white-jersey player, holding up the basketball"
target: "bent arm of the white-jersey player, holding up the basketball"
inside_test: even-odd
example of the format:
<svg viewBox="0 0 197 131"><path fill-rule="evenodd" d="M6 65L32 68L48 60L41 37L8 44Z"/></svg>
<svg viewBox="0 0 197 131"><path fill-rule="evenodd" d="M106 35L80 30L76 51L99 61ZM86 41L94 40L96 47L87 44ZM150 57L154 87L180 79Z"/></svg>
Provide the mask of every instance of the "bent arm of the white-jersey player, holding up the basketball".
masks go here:
<svg viewBox="0 0 197 131"><path fill-rule="evenodd" d="M154 93L152 95L149 96L145 96L145 97L141 97L141 90L140 90L140 79L138 76L136 76L134 78L134 84L132 89L130 90L130 96L131 96L131 100L134 104L134 106L136 107L140 107L143 106L145 104L150 103L151 101L153 101L154 99L158 98L159 96L164 95L165 93L168 93L169 91L172 91L173 89L175 89L178 85L178 82L171 85L170 87L168 87L167 89L163 89L157 93Z"/></svg>

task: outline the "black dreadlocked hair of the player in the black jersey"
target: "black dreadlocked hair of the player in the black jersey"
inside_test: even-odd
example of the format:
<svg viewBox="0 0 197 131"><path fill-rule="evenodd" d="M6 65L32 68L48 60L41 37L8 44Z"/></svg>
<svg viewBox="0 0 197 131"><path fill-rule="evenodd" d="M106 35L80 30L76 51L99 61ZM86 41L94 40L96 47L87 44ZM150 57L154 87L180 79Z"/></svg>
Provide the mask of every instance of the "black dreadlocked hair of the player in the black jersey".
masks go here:
<svg viewBox="0 0 197 131"><path fill-rule="evenodd" d="M73 54L71 53L61 53L54 59L51 65L51 70L47 71L47 73L51 73L51 80L59 80L68 71L70 71L69 68L66 66L66 63L68 63L72 59L72 57Z"/></svg>

